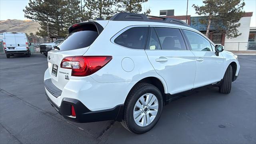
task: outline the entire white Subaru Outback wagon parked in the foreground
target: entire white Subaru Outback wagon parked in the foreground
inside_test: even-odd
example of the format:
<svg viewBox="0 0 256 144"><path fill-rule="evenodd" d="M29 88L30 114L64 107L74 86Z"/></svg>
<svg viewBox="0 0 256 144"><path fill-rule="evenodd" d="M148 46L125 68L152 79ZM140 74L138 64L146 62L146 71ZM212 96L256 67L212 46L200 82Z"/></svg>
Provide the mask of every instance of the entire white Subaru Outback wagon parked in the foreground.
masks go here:
<svg viewBox="0 0 256 144"><path fill-rule="evenodd" d="M230 93L240 68L236 55L172 18L118 13L68 32L48 52L44 85L52 106L74 122L116 120L142 134L183 92Z"/></svg>

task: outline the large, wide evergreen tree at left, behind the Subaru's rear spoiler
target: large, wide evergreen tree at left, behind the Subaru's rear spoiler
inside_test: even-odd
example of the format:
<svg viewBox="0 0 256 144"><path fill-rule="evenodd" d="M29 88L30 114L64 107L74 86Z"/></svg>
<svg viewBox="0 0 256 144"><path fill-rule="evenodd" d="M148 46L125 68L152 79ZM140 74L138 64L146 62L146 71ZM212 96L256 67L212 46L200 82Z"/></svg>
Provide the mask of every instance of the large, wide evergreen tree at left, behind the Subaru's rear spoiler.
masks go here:
<svg viewBox="0 0 256 144"><path fill-rule="evenodd" d="M66 36L67 28L82 20L80 0L29 0L25 17L39 22L39 36Z"/></svg>

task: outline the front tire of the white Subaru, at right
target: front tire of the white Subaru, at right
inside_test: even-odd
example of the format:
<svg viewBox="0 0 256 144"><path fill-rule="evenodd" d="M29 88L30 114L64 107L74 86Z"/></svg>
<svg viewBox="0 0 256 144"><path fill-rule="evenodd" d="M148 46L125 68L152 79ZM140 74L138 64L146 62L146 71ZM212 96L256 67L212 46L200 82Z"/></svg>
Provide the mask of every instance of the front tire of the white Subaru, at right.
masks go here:
<svg viewBox="0 0 256 144"><path fill-rule="evenodd" d="M228 66L224 78L222 79L222 82L219 87L219 92L222 94L229 94L231 91L231 86L232 86L232 66Z"/></svg>

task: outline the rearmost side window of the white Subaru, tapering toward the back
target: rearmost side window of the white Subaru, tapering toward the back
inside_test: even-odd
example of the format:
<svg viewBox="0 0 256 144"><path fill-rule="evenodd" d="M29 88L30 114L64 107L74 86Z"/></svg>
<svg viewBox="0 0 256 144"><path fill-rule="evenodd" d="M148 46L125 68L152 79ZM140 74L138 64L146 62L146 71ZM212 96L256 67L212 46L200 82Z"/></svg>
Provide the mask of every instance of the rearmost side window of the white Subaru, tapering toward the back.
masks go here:
<svg viewBox="0 0 256 144"><path fill-rule="evenodd" d="M148 27L134 27L120 34L114 42L120 46L132 49L144 49Z"/></svg>

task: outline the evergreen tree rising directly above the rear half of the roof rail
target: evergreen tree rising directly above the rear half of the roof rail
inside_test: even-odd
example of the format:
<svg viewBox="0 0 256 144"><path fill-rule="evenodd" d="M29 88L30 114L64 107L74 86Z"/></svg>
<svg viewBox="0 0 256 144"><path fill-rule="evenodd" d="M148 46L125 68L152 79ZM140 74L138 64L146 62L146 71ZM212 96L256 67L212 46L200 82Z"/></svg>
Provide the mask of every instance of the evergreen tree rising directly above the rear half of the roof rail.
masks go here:
<svg viewBox="0 0 256 144"><path fill-rule="evenodd" d="M141 13L141 4L147 1L148 0L117 0L117 6L120 12ZM149 14L150 12L150 9L148 9L144 14Z"/></svg>

